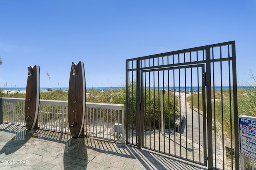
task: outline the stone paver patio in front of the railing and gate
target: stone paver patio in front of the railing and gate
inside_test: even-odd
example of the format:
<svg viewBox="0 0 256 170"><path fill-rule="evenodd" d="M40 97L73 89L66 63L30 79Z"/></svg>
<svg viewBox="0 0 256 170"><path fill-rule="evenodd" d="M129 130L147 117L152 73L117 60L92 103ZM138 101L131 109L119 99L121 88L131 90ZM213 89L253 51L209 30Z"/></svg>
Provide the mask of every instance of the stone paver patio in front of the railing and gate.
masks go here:
<svg viewBox="0 0 256 170"><path fill-rule="evenodd" d="M207 167L145 149L69 134L0 125L1 169L198 169Z"/></svg>

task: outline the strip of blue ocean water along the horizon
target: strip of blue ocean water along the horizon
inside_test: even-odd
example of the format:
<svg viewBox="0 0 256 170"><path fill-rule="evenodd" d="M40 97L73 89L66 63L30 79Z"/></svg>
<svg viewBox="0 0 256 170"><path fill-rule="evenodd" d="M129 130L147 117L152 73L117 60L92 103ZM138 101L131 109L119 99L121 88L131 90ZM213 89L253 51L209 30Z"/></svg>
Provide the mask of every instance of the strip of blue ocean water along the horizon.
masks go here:
<svg viewBox="0 0 256 170"><path fill-rule="evenodd" d="M95 89L95 90L100 90L100 91L104 91L104 90L115 90L115 89L122 89L122 88L125 88L125 87L90 87L90 88L86 88L86 90L91 90L91 89ZM146 88L149 88L149 87L146 87ZM150 87L150 88L153 88L153 87ZM216 87L212 87L212 89L215 89L216 91L218 90L221 90L221 87L220 86L216 86ZM222 86L222 89L223 90L229 90L229 88L233 88L233 87L229 87L229 86ZM250 88L253 88L251 86L238 86L237 89L250 89ZM26 91L26 88L24 87L8 87L8 88L0 88L2 90L21 90L21 91ZM67 91L68 90L68 87L54 87L54 88L51 88L52 90L65 90ZM185 87L185 86L177 86L177 87L155 87L155 89L159 89L159 90L181 90L181 91L194 91L194 92L197 92L197 91L202 91L202 87ZM47 91L48 88L47 87L42 87L40 88L40 90L42 91Z"/></svg>

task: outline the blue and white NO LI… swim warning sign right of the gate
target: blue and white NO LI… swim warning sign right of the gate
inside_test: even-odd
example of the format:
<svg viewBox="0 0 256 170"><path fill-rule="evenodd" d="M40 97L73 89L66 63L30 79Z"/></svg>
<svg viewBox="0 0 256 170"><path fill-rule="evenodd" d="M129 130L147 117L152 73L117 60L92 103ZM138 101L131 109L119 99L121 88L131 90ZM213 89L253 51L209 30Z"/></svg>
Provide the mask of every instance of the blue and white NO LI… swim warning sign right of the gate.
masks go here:
<svg viewBox="0 0 256 170"><path fill-rule="evenodd" d="M240 115L240 153L256 160L256 117Z"/></svg>

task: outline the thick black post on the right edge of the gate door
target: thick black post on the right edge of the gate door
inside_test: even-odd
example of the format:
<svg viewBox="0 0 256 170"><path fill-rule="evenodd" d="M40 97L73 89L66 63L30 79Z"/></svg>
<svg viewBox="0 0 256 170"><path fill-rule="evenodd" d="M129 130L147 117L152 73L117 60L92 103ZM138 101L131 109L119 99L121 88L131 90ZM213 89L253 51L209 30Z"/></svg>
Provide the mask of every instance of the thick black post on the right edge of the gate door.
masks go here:
<svg viewBox="0 0 256 170"><path fill-rule="evenodd" d="M207 105L207 142L208 142L208 169L213 169L212 152L212 87L210 47L206 49L206 105Z"/></svg>

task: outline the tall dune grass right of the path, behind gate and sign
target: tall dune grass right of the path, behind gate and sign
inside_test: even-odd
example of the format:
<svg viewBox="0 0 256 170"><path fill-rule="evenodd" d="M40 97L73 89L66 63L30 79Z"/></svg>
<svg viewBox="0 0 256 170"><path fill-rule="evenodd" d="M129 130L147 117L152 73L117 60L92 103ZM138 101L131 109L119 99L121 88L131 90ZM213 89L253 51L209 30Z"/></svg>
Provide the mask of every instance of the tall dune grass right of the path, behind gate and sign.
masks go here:
<svg viewBox="0 0 256 170"><path fill-rule="evenodd" d="M212 89L212 119L216 119L218 123L223 125L225 136L232 139L234 143L234 102L233 90L213 91ZM199 99L198 99L199 98ZM238 116L248 115L256 117L256 87L249 86L248 88L237 90L237 107ZM192 103L193 101L193 103ZM198 102L199 101L199 102ZM202 93L193 93L193 96L187 98L194 108L200 108L202 111L203 101ZM207 108L207 104L206 104ZM206 110L207 114L207 110ZM231 118L230 118L231 117ZM218 128L218 127L216 127ZM218 129L216 129L218 131ZM232 133L231 133L232 132ZM230 136L230 134L233 134Z"/></svg>

